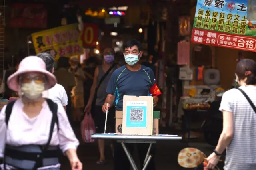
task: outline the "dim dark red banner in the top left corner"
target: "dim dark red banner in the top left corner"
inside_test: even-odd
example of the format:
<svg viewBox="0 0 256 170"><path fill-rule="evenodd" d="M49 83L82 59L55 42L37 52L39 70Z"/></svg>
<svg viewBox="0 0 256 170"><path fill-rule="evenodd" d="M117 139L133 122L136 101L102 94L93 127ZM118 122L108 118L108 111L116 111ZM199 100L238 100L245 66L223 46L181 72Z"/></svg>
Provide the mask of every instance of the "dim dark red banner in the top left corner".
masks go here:
<svg viewBox="0 0 256 170"><path fill-rule="evenodd" d="M47 28L47 9L44 4L12 4L10 27Z"/></svg>

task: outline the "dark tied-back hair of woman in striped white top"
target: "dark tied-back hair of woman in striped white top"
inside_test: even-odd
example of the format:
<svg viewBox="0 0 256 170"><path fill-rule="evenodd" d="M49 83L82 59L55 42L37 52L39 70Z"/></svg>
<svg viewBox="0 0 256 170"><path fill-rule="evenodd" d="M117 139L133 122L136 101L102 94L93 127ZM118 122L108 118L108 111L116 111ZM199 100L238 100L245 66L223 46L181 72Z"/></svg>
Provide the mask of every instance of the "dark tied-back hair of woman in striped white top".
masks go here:
<svg viewBox="0 0 256 170"><path fill-rule="evenodd" d="M246 71L252 72L246 75ZM239 80L246 79L246 85L256 85L256 63L252 59L242 59L236 65L236 75Z"/></svg>

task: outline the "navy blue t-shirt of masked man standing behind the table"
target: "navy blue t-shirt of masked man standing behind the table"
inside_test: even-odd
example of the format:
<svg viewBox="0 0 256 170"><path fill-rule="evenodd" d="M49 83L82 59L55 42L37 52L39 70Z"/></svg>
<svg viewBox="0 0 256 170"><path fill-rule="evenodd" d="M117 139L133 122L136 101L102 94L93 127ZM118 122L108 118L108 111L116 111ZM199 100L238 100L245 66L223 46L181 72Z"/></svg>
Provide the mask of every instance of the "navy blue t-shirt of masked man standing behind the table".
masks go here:
<svg viewBox="0 0 256 170"><path fill-rule="evenodd" d="M141 65L140 70L130 71L123 65L112 73L106 92L116 96L116 110L122 111L124 95L148 96L155 82L154 72L149 67Z"/></svg>

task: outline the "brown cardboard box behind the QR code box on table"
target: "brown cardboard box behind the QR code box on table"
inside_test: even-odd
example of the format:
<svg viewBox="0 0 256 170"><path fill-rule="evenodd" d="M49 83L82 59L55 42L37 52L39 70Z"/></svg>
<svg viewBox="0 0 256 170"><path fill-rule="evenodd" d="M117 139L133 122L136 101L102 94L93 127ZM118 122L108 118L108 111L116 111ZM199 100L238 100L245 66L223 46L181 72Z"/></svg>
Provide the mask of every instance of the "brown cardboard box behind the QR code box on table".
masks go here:
<svg viewBox="0 0 256 170"><path fill-rule="evenodd" d="M153 135L159 134L160 112L153 112ZM123 111L116 111L116 133L122 133L123 129Z"/></svg>

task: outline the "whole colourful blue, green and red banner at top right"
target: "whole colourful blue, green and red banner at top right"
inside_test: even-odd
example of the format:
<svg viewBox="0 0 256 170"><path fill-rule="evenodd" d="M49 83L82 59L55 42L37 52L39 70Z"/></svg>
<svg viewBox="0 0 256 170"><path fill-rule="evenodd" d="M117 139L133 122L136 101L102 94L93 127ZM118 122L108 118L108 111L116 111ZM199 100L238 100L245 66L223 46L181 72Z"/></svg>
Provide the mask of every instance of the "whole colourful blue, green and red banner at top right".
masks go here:
<svg viewBox="0 0 256 170"><path fill-rule="evenodd" d="M198 0L191 42L256 52L247 0Z"/></svg>

